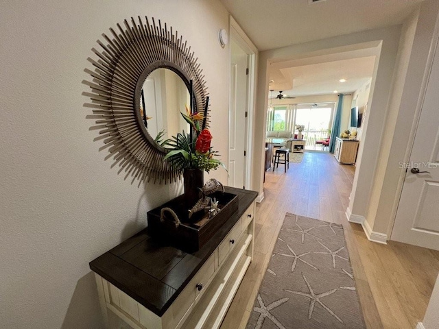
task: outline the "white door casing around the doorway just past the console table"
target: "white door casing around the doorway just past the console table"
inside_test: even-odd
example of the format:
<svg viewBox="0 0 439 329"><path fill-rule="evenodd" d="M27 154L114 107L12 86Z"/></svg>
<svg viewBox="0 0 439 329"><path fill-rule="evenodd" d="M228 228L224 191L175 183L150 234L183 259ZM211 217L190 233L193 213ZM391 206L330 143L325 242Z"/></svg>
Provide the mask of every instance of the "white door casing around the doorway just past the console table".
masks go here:
<svg viewBox="0 0 439 329"><path fill-rule="evenodd" d="M254 46L253 42L248 38L243 29L238 25L237 21L233 19L233 16L229 16L229 35L230 39L234 40L239 47L244 50L247 54L248 58L248 84L247 84L247 92L246 92L246 112L247 112L247 120L246 120L246 132L245 132L245 143L244 150L246 151L246 157L244 158L244 186L246 189L252 189L252 154L253 154L253 145L252 138L254 134L254 106L256 104L256 77L257 77L257 56L258 50ZM229 47L230 51L231 47ZM231 51L229 53L229 58L231 62ZM230 77L229 77L229 88L231 88ZM230 101L231 101L231 90L229 92L229 110L230 110ZM230 120L230 119L229 119ZM230 121L228 124L230 130ZM230 134L230 131L229 131ZM228 149L230 149L230 141L228 145Z"/></svg>

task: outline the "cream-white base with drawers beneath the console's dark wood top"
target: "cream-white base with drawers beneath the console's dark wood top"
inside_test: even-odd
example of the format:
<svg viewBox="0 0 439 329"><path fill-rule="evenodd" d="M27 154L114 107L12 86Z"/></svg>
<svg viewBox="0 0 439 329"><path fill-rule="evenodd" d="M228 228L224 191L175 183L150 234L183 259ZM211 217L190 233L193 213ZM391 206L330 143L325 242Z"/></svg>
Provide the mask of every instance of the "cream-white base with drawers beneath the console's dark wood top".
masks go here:
<svg viewBox="0 0 439 329"><path fill-rule="evenodd" d="M252 202L161 317L95 273L106 328L121 328L119 319L108 321L108 310L133 329L219 328L252 261L254 213Z"/></svg>

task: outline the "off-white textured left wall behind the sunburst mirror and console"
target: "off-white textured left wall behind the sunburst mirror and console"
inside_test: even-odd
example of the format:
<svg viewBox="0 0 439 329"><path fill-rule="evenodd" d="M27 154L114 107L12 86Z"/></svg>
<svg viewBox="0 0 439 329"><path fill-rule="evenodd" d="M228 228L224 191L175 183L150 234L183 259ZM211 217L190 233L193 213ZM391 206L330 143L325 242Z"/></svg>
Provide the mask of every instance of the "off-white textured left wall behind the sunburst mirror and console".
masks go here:
<svg viewBox="0 0 439 329"><path fill-rule="evenodd" d="M131 16L188 41L209 86L213 146L227 163L228 14L216 0L6 1L0 11L0 323L101 328L88 262L146 225L176 186L124 181L83 107L88 56ZM226 173L215 173L226 180Z"/></svg>

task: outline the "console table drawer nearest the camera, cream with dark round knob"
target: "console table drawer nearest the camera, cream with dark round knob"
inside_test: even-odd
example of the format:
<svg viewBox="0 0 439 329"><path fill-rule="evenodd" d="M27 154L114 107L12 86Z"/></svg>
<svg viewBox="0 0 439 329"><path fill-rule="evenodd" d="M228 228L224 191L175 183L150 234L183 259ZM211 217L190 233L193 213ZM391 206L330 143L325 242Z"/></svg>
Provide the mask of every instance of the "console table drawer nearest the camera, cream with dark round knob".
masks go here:
<svg viewBox="0 0 439 329"><path fill-rule="evenodd" d="M195 299L205 289L206 284L209 282L209 279L215 271L214 260L215 256L212 254L172 304L174 321L176 321L176 324L178 324L180 319L185 316L187 310L189 310L193 302L195 302Z"/></svg>

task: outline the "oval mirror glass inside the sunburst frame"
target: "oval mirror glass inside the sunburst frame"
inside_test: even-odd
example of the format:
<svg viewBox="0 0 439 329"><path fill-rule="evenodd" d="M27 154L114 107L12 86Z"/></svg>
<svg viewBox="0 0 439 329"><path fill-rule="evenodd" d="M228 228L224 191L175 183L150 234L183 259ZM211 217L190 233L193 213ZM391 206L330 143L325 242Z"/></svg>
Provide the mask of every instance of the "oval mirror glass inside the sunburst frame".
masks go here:
<svg viewBox="0 0 439 329"><path fill-rule="evenodd" d="M180 114L186 113L189 103L189 90L180 76L165 68L152 71L143 83L139 109L150 136L156 139L163 131L163 143L178 132L189 132L189 124Z"/></svg>

